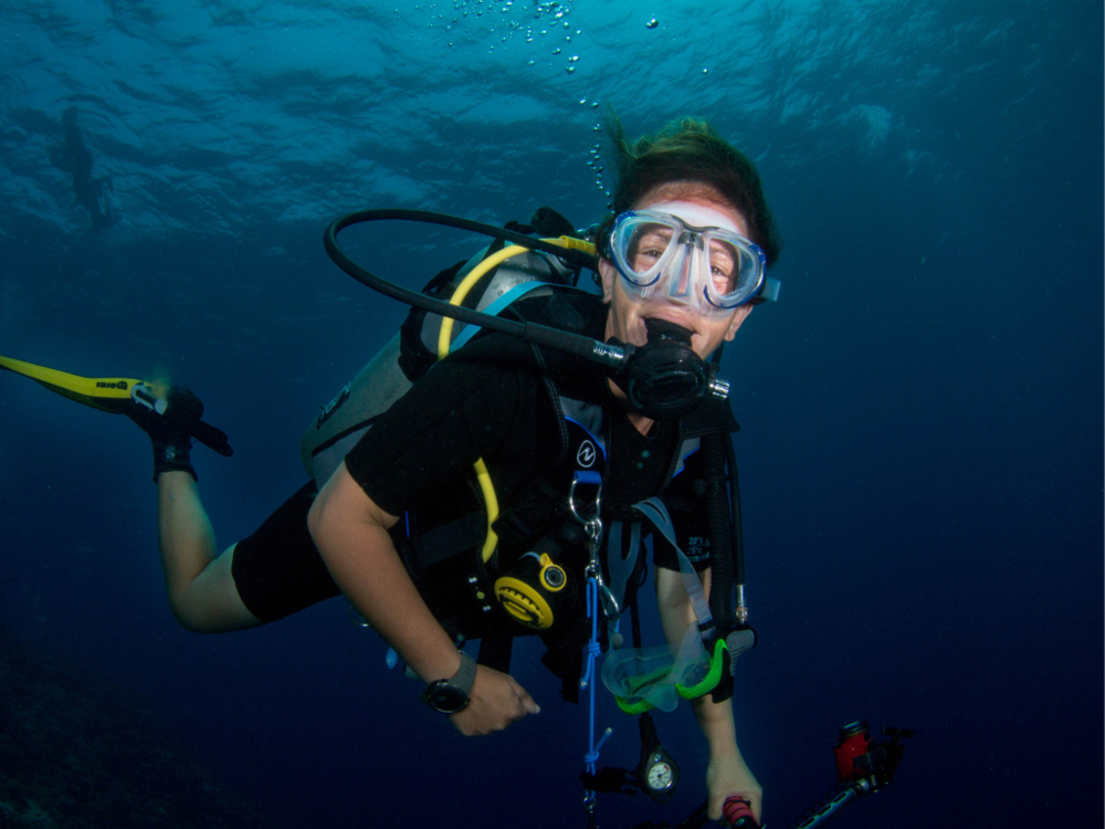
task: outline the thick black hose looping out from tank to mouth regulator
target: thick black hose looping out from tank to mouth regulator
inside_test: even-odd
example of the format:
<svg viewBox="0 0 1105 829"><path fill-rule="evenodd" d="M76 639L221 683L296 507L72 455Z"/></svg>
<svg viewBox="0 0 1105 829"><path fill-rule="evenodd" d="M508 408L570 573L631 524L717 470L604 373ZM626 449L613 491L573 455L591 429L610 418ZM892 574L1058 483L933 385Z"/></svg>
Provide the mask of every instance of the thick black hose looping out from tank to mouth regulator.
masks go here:
<svg viewBox="0 0 1105 829"><path fill-rule="evenodd" d="M361 267L349 259L345 251L338 246L338 233L349 225L388 219L427 222L430 224L444 224L446 227L467 230L474 233L482 233L483 235L490 235L496 239L505 239L506 241L514 242L523 248L551 253L556 256L560 256L561 259L569 260L573 263L580 263L592 269L594 266L593 256L582 251L561 248L560 245L551 242L545 242L540 239L534 239L533 237L527 237L511 230L496 228L493 224L484 224L483 222L475 222L454 216L444 216L442 213L433 213L425 210L358 210L352 213L347 213L346 216L330 222L323 234L323 244L325 245L326 252L329 254L330 259L334 260L334 263L361 284L367 285L373 291L378 291L385 296L390 296L391 298L398 300L407 305L423 308L431 314L440 314L441 316L452 317L453 319L459 319L460 322L467 323L470 325L478 325L490 330L522 337L522 339L527 343L567 351L568 354L573 354L608 367L618 368L624 365L629 359L631 354L630 348L608 345L606 343L591 339L590 337L585 337L579 334L570 334L546 325L503 319L501 317L484 314L478 311L472 311L460 305L452 305L442 300L434 300L433 297L427 296L418 291L411 291L402 287Z"/></svg>

